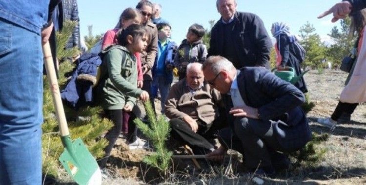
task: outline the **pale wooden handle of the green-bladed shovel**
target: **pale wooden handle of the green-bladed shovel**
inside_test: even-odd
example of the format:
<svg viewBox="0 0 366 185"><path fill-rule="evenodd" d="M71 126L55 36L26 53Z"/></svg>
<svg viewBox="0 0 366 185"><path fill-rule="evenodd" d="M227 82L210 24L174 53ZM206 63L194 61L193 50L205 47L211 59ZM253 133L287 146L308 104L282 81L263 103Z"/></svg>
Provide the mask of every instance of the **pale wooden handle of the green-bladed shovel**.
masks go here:
<svg viewBox="0 0 366 185"><path fill-rule="evenodd" d="M63 110L63 105L61 101L59 83L57 81L55 66L53 64L50 43L48 41L42 46L42 50L47 78L52 92L53 103L55 105L56 117L57 121L59 122L60 134L61 136L70 135L69 129L67 128L65 111Z"/></svg>

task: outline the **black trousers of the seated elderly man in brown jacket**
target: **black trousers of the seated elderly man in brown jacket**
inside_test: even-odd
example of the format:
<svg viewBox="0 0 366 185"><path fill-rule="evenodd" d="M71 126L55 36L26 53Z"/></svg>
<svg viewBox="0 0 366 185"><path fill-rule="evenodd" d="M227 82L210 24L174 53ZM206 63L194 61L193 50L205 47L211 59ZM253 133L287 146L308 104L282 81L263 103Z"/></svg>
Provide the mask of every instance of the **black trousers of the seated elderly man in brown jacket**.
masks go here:
<svg viewBox="0 0 366 185"><path fill-rule="evenodd" d="M197 132L194 132L191 127L181 119L171 119L170 126L171 136L182 141L183 144L188 144L193 150L201 150L202 153L214 148L207 140L217 137L219 129L224 128L224 122L220 117L216 118L212 124L205 124L203 121L196 121L198 124ZM205 151L206 150L206 151Z"/></svg>

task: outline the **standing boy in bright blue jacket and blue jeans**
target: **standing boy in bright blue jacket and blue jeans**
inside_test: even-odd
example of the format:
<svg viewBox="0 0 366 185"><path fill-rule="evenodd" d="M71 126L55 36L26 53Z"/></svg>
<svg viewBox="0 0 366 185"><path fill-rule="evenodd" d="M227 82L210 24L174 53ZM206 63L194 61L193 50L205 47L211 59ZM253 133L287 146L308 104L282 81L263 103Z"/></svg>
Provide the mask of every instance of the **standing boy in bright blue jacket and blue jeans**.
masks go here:
<svg viewBox="0 0 366 185"><path fill-rule="evenodd" d="M152 100L157 96L159 89L162 106L162 114L164 113L164 104L170 86L173 82L173 68L174 68L174 53L177 49L175 42L171 41L171 26L168 23L159 23L156 25L158 28L158 54L156 56L154 66L152 68L153 81L152 81Z"/></svg>

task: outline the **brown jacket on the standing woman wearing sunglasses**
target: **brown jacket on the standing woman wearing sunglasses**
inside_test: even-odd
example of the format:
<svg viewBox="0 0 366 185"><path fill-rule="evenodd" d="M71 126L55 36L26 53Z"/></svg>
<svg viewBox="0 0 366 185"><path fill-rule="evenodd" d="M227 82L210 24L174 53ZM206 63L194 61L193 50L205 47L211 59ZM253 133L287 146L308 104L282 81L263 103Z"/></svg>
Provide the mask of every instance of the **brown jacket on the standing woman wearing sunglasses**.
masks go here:
<svg viewBox="0 0 366 185"><path fill-rule="evenodd" d="M146 65L148 71L143 75L143 80L152 80L151 68L154 65L156 53L158 52L158 29L155 24L148 21L145 24L147 34L149 36L149 42L146 51L141 54L141 64Z"/></svg>

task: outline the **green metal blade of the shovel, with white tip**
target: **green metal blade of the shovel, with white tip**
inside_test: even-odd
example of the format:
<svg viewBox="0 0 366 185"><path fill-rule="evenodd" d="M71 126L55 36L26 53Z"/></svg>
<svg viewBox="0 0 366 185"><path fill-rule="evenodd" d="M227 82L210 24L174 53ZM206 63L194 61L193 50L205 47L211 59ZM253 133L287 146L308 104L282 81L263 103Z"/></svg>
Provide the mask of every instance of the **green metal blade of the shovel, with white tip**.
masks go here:
<svg viewBox="0 0 366 185"><path fill-rule="evenodd" d="M61 137L65 150L61 153L59 161L67 173L79 185L101 185L101 170L95 158L80 138L70 139L70 135Z"/></svg>

